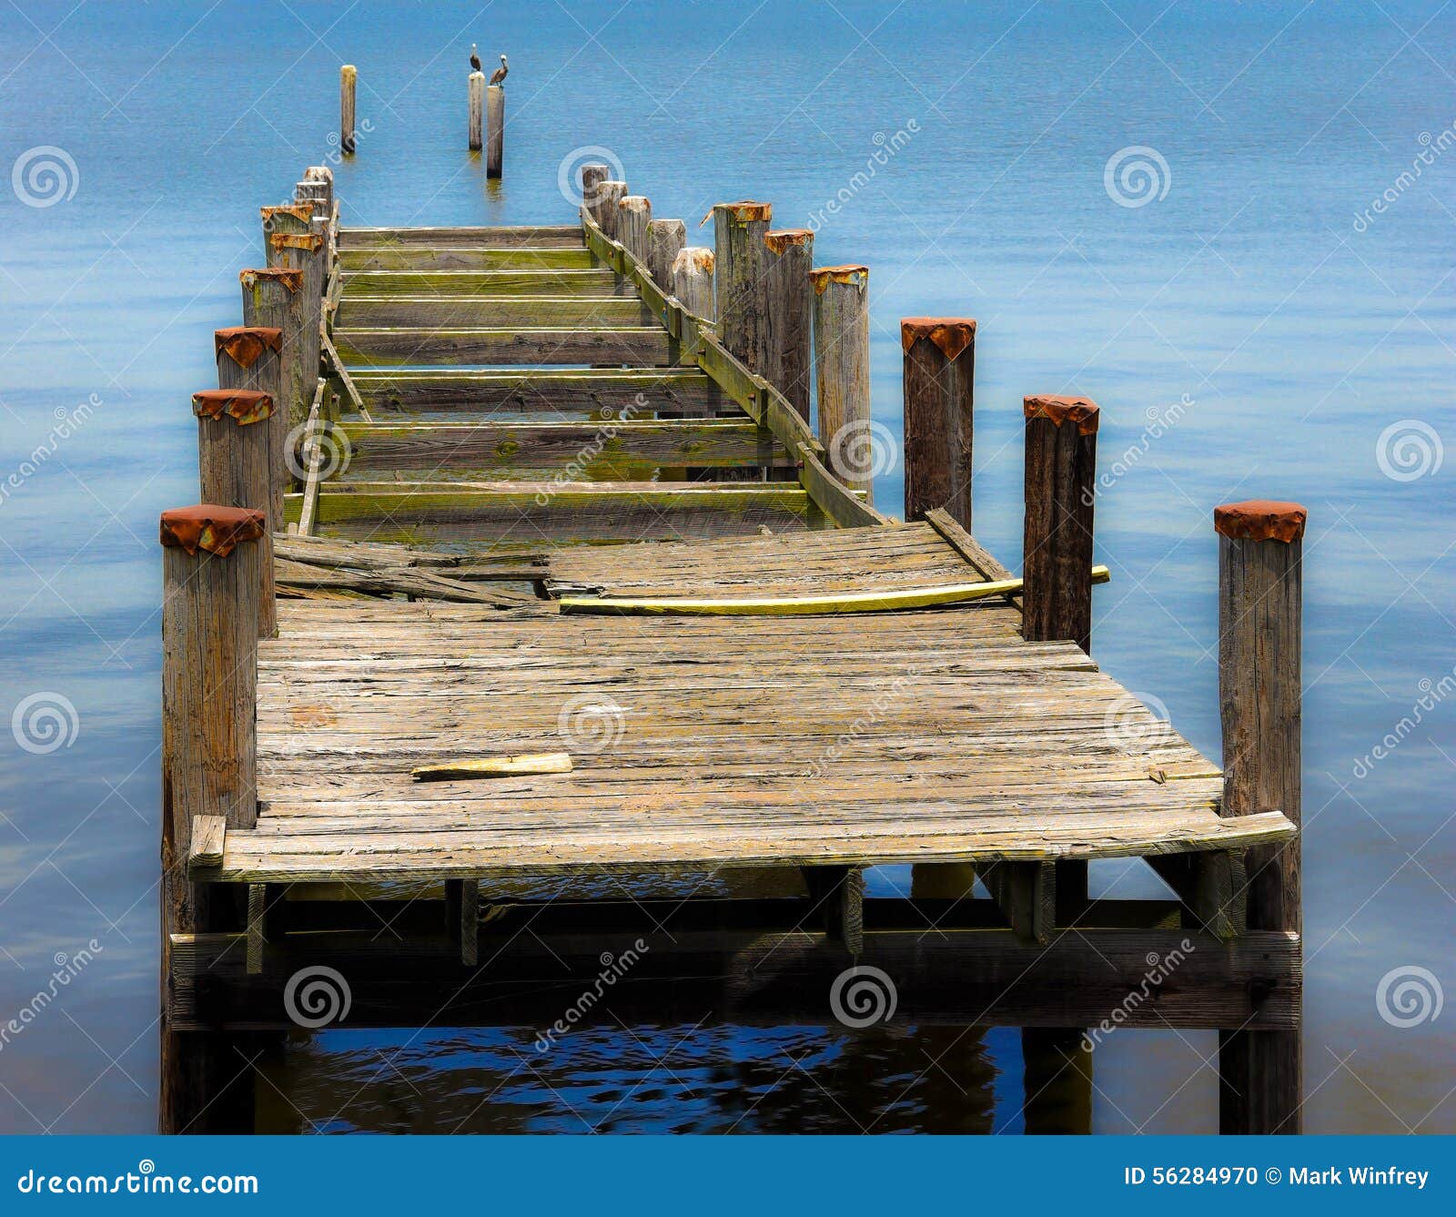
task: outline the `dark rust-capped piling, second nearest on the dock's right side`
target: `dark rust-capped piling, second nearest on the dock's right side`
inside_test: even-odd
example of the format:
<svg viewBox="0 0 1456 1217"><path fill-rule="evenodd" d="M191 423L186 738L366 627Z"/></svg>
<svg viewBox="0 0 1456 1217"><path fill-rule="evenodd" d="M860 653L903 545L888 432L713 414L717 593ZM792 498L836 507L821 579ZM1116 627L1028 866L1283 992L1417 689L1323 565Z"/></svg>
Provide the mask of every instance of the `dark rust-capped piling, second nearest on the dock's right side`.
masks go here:
<svg viewBox="0 0 1456 1217"><path fill-rule="evenodd" d="M1037 396L1026 419L1022 633L1092 649L1092 502L1098 408L1086 397Z"/></svg>

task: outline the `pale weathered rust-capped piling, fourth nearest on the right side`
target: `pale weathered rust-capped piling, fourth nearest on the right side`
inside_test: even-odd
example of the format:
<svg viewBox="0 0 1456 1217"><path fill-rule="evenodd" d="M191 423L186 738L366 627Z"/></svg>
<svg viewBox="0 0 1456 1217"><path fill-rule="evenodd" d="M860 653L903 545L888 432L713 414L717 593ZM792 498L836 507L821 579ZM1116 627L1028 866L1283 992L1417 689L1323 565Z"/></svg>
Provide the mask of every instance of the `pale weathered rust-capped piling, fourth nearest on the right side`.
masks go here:
<svg viewBox="0 0 1456 1217"><path fill-rule="evenodd" d="M820 443L840 480L869 489L869 268L817 266L810 285Z"/></svg>

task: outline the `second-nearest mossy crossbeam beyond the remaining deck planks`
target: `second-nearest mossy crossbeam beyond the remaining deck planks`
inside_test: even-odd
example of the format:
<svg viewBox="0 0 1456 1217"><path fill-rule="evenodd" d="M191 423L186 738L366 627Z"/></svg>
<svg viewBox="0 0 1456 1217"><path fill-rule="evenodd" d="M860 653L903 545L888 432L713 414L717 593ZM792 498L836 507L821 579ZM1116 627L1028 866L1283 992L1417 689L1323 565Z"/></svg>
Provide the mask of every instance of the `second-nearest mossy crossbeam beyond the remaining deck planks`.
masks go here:
<svg viewBox="0 0 1456 1217"><path fill-rule="evenodd" d="M348 422L348 477L402 469L430 479L537 477L649 480L662 466L791 466L747 419L630 422Z"/></svg>

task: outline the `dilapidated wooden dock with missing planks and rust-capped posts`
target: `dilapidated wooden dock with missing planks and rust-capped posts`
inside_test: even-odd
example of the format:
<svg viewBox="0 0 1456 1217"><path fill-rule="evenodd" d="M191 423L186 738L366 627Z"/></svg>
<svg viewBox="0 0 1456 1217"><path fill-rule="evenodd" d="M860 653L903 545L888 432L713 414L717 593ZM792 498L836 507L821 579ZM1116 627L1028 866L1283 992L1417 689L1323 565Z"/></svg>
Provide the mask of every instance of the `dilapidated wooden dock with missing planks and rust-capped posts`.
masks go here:
<svg viewBox="0 0 1456 1217"><path fill-rule="evenodd" d="M974 322L904 323L890 520L865 268L737 202L708 272L604 178L577 224L341 227L326 169L264 210L162 518L163 1131L248 1122L300 977L342 1026L549 1026L623 952L584 1018L828 1023L871 968L1088 1085L1089 1028L1217 1028L1223 1130L1296 1131L1302 508L1216 514L1222 773L1089 655L1093 403L1025 399L1018 579ZM1171 898L1088 897L1133 856Z"/></svg>

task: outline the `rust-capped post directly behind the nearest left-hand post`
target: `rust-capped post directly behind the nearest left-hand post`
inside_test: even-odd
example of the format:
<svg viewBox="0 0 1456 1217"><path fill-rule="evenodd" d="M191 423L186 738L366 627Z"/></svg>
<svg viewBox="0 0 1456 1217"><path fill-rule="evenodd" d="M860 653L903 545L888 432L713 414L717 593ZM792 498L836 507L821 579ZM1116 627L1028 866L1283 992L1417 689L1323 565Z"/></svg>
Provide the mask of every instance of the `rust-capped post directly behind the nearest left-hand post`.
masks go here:
<svg viewBox="0 0 1456 1217"><path fill-rule="evenodd" d="M278 636L272 533L282 528L282 470L274 464L269 435L269 422L277 412L274 399L259 389L204 389L192 395L202 502L280 511L266 517L266 527L258 539L262 579L258 591L259 638ZM277 508L272 507L275 498Z"/></svg>

